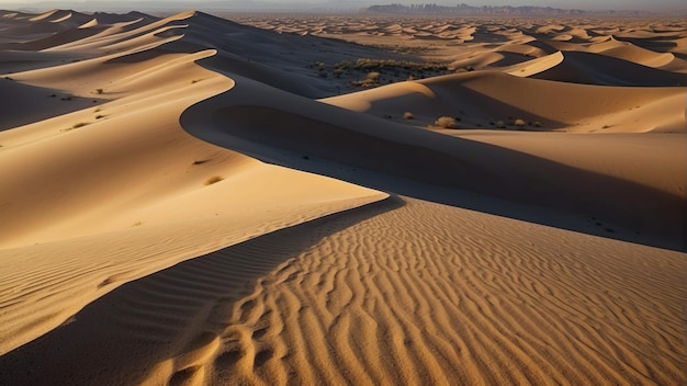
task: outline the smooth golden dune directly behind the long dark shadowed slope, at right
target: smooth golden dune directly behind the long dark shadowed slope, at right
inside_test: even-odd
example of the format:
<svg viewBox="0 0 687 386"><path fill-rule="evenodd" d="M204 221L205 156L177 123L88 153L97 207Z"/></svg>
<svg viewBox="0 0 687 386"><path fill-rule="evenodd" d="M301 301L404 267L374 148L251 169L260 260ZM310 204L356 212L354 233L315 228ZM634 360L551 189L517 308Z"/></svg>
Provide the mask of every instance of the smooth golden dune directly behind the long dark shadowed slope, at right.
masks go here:
<svg viewBox="0 0 687 386"><path fill-rule="evenodd" d="M684 133L685 92L686 88L676 87L562 84L500 72L476 71L417 83L392 84L325 101L376 116L398 116L404 111L410 111L425 120L435 120L440 115L460 116L461 125L468 128L520 117L527 122L540 122L543 129ZM645 114L663 107L674 115L651 114L652 121L645 125L632 113L645 109ZM620 116L624 122L618 122ZM611 127L611 121L615 127ZM416 122L414 120L410 123Z"/></svg>

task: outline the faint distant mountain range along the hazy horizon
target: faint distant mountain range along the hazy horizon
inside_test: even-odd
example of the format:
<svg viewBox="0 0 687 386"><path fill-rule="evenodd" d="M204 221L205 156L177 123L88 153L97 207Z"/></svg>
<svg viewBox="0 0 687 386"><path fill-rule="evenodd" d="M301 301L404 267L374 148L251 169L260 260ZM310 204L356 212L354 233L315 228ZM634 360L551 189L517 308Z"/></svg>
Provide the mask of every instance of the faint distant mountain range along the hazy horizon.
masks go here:
<svg viewBox="0 0 687 386"><path fill-rule="evenodd" d="M511 7L511 5L483 5L473 7L468 4L458 4L455 7L438 5L435 3L428 4L386 4L386 5L371 5L368 7L367 12L370 13L391 13L391 14L451 14L451 15L520 15L520 16L542 16L542 15L592 15L592 14L606 14L606 15L642 15L650 14L646 11L585 11L585 10L564 10L552 7Z"/></svg>

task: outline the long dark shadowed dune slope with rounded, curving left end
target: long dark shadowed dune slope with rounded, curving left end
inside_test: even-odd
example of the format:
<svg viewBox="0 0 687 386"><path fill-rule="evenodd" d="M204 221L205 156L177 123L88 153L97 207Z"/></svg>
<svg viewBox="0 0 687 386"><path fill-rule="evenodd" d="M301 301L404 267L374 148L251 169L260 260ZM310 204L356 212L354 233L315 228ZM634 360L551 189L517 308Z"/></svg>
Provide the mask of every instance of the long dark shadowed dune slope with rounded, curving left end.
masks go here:
<svg viewBox="0 0 687 386"><path fill-rule="evenodd" d="M297 96L277 90L275 98L251 100L251 92L241 91L243 83L189 107L181 116L184 129L267 162L380 191L685 250L683 196L315 101L294 102ZM466 200L465 192L496 197L500 204Z"/></svg>

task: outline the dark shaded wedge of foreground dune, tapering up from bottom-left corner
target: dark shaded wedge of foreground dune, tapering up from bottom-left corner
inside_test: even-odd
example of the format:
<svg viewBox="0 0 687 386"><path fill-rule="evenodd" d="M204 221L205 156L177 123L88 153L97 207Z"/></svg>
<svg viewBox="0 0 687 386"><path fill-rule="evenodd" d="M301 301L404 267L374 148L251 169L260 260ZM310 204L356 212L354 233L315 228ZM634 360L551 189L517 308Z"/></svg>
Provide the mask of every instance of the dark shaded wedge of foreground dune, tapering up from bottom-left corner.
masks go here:
<svg viewBox="0 0 687 386"><path fill-rule="evenodd" d="M339 212L126 283L0 356L0 385L139 384L157 366L193 349L210 309L230 309L257 279L324 237L402 205L390 197Z"/></svg>

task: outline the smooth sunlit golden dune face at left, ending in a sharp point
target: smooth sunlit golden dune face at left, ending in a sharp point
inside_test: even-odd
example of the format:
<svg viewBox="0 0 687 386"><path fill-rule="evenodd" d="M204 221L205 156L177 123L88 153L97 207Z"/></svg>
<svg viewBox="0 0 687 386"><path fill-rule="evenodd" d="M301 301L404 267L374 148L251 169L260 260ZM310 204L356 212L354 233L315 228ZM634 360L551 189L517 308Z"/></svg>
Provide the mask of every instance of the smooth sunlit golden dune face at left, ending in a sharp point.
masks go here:
<svg viewBox="0 0 687 386"><path fill-rule="evenodd" d="M119 37L112 35L111 39ZM164 37L159 41L168 42ZM12 183L0 192L4 204L0 226L0 243L4 249L0 254L3 260L9 259L8 264L16 256L32 260L29 257L37 258L41 252L36 249L42 249L26 247L47 243L55 257L37 270L29 264L3 271L9 275L2 281L3 288L14 288L3 299L3 308L9 315L13 315L12 309L20 314L3 323L2 351L55 328L94 297L121 284L122 280L108 279L121 276L120 272L127 272L123 275L126 281L133 280L223 245L384 196L266 166L194 139L181 129L178 116L195 101L234 84L230 79L193 64L213 52L135 55L135 52L116 55L133 59L125 66L112 66L112 57L103 57L21 72L14 75L16 80L10 80L116 100L91 103L82 98L79 105L74 100L49 98L45 94L49 89L33 88L33 94L27 98L49 100L54 107L43 109L57 116L2 133L0 175ZM108 88L102 94L94 91L99 84ZM179 92L182 89L185 91ZM36 95L40 90L44 93ZM83 103L89 107L78 110ZM75 111L58 115L64 113L64 104L72 104ZM18 116L26 113L20 110ZM279 200L270 197L269 192L261 193L266 188L263 180L283 186L271 191L279 192ZM309 186L307 192L302 192L300 184ZM291 205L280 204L281 200L290 201L289 196L294 200ZM210 232L215 237L206 242L196 237L190 243L188 235L183 235L189 227L207 230L209 223L216 223L217 217L225 218L219 222L224 224L219 227L225 228L219 245L216 230ZM227 218L244 220L234 223ZM170 226L177 230L160 230ZM158 230L139 231L139 227ZM132 250L120 254L116 248L101 249L100 243L110 237L124 242L113 234L122 234L126 242L158 246L167 252L156 252L153 248L129 260ZM167 242L156 241L154 235ZM78 247L70 241L83 237L87 239L76 242ZM60 248L61 245L66 247ZM83 251L76 259L69 258L74 248ZM90 268L79 280L68 280L75 266L81 265ZM46 276L52 280L46 281ZM20 277L22 282L11 277ZM103 280L113 285L99 286ZM63 287L65 281L69 282L68 290ZM43 290L34 297L31 294L36 286Z"/></svg>

